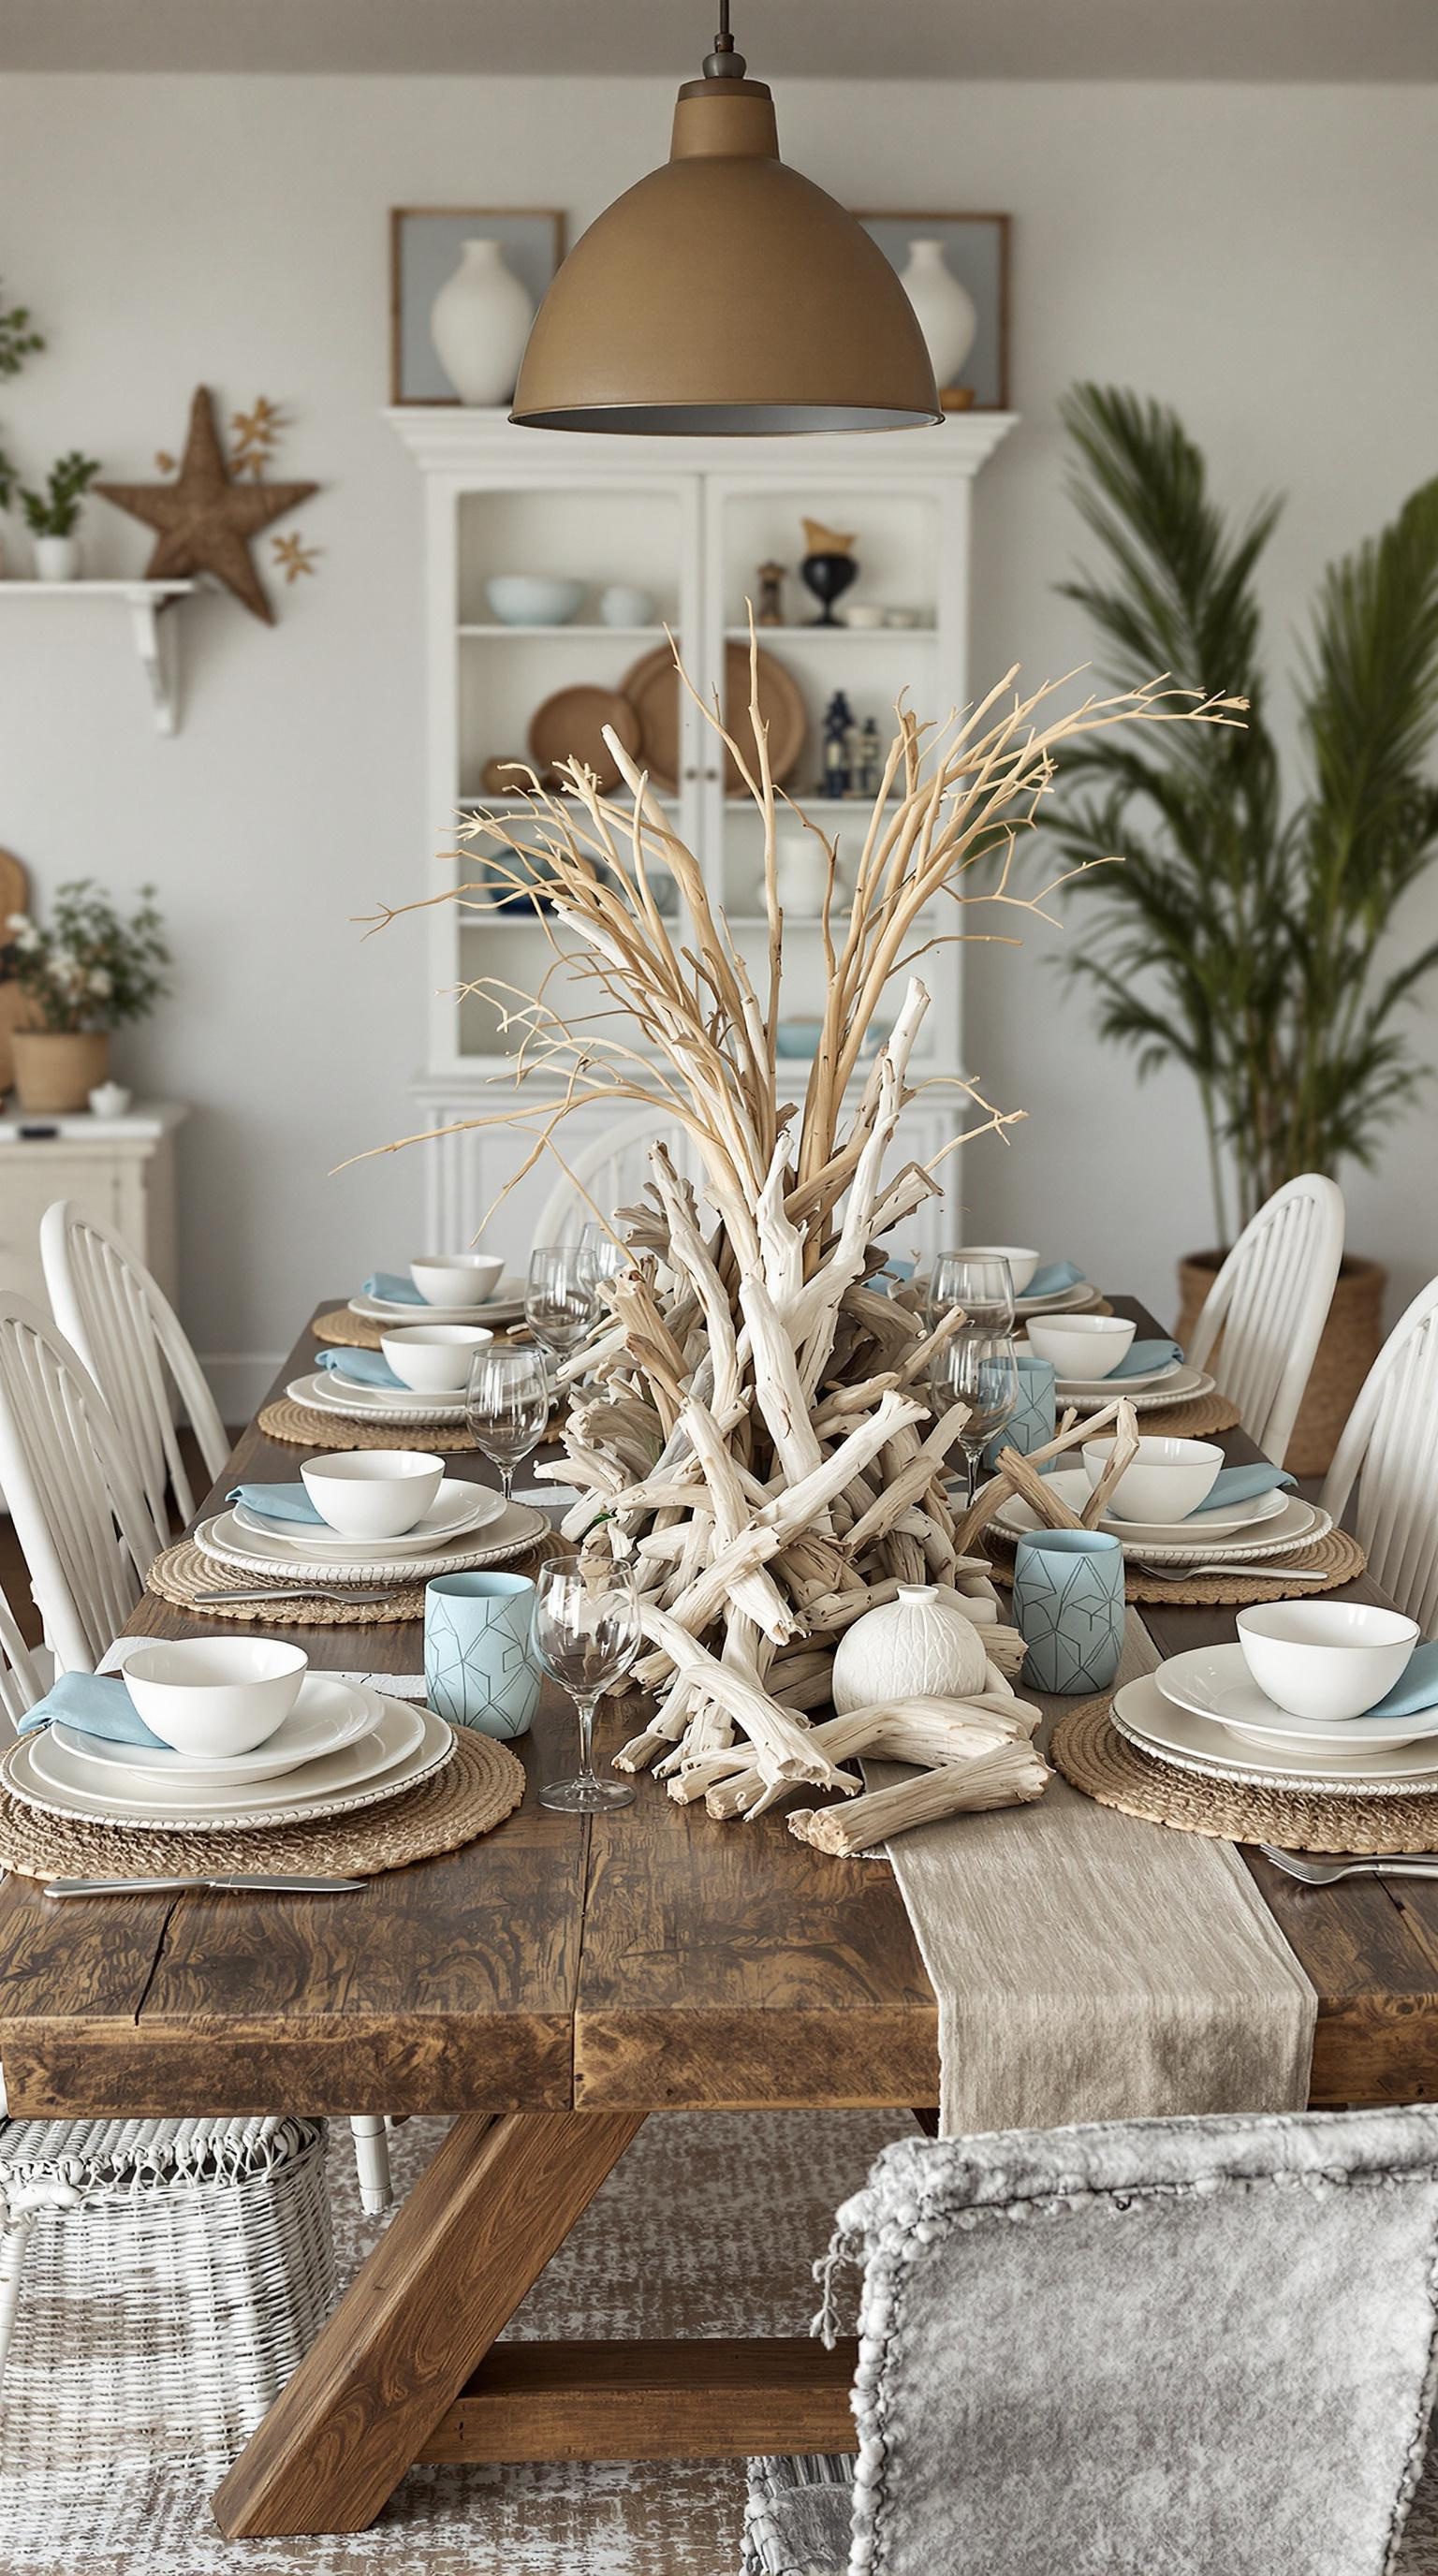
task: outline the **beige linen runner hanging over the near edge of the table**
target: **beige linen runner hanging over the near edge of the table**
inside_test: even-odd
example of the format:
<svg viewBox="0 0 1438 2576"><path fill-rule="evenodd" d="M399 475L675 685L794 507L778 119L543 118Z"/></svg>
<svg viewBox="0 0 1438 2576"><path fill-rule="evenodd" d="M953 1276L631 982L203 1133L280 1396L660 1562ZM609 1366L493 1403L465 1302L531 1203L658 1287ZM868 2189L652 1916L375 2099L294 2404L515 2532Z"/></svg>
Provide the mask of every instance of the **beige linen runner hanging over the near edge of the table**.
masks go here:
<svg viewBox="0 0 1438 2576"><path fill-rule="evenodd" d="M1118 1685L1157 1662L1129 1613ZM1072 1703L1041 1705L1039 1741ZM1054 1775L889 1860L938 1996L946 2136L1307 2107L1317 1994L1232 1842Z"/></svg>

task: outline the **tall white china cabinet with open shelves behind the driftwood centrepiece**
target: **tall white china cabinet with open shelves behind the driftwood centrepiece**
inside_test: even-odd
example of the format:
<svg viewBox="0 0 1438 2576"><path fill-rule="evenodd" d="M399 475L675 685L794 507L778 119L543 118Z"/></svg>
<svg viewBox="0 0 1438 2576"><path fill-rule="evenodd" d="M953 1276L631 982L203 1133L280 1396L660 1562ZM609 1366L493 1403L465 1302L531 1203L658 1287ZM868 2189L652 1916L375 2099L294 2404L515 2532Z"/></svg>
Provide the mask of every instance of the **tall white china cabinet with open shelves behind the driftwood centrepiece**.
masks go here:
<svg viewBox="0 0 1438 2576"><path fill-rule="evenodd" d="M840 438L588 438L518 430L500 412L394 410L389 420L425 477L428 791L423 889L469 886L464 904L436 904L430 938L430 1048L417 1100L428 1126L451 1126L503 1105L521 1030L482 979L533 992L554 948L533 904L500 909L484 884L482 845L456 855L461 811L523 814L523 796L482 793L490 760L528 757L536 708L582 683L621 688L634 665L665 647L670 626L698 690L722 683L734 644L747 644L745 600L760 603L760 564L783 564L781 626L760 647L801 698L804 739L786 791L825 829L838 827L840 871L856 855L871 799L822 791L822 724L835 690L856 732L874 716L889 742L899 693L915 714L943 719L969 698L969 507L972 484L1010 412L956 412L943 428ZM863 623L820 626L820 603L799 577L804 518L853 533L858 574L838 603ZM487 600L495 574L549 574L585 585L559 626L505 626ZM652 621L608 626L598 600L626 585L647 592ZM894 623L868 623L884 613ZM902 623L897 623L902 618ZM727 793L722 747L693 706L680 711L678 775L665 799L678 829L724 904L734 938L763 956L760 829L747 799ZM417 871L420 873L420 871ZM943 927L935 920L935 927ZM915 1074L930 1087L905 1113L905 1149L935 1154L961 1123L946 1087L964 1066L961 951L923 963L933 992ZM786 1018L822 1002L825 958L814 920L786 914ZM564 1010L559 979L549 999ZM593 992L577 1002L593 1010ZM796 1061L796 1097L807 1066ZM536 1087L526 1082L526 1097ZM570 1144L626 1110L585 1110ZM430 1149L428 1231L459 1244L479 1226L503 1182L526 1159L515 1128L474 1128ZM554 1182L554 1164L513 1193L503 1236L526 1239ZM948 1231L959 1154L943 1164L946 1200L915 1218L912 1242L933 1249Z"/></svg>

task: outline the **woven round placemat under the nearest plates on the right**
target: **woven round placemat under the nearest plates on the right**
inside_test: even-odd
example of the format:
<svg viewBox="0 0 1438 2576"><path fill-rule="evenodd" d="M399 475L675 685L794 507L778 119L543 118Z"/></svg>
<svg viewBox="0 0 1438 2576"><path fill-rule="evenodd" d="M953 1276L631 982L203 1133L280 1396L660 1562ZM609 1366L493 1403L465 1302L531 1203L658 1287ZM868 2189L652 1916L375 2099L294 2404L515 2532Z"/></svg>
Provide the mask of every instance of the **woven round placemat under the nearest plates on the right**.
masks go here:
<svg viewBox="0 0 1438 2576"><path fill-rule="evenodd" d="M1126 1744L1108 1718L1108 1698L1064 1710L1049 1759L1100 1806L1214 1842L1273 1842L1281 1852L1430 1852L1438 1837L1438 1798L1201 1780Z"/></svg>

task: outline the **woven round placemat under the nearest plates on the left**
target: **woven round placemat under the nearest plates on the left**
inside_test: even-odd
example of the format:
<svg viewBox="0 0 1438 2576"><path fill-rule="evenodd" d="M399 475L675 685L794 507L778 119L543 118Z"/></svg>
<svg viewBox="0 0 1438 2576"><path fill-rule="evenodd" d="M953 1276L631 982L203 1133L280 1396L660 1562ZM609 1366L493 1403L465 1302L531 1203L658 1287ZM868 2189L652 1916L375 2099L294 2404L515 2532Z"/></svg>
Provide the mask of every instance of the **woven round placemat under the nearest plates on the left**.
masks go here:
<svg viewBox="0 0 1438 2576"><path fill-rule="evenodd" d="M232 1870L379 1878L410 1860L456 1852L503 1824L521 1798L523 1762L508 1744L461 1726L446 1767L387 1806L245 1834L142 1834L82 1816L41 1816L0 1790L0 1868L23 1878L224 1878Z"/></svg>

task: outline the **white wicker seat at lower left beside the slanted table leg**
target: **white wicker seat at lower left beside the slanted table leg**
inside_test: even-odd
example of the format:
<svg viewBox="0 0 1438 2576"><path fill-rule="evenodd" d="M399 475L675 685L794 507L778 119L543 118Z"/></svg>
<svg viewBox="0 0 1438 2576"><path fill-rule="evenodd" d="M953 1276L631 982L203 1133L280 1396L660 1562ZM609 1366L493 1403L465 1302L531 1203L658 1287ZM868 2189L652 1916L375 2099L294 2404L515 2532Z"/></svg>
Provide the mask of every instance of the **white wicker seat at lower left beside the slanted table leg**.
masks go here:
<svg viewBox="0 0 1438 2576"><path fill-rule="evenodd" d="M335 2303L322 2123L0 2123L8 2295L0 2499L219 2476Z"/></svg>

